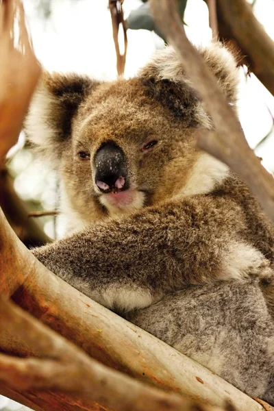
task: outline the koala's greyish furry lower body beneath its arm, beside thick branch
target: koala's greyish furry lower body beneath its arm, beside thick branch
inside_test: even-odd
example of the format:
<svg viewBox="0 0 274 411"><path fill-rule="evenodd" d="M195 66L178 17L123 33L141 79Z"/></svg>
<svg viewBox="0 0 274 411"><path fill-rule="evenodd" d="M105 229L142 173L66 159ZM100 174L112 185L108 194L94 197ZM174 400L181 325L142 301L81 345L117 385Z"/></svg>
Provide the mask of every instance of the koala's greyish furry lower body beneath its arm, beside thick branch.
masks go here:
<svg viewBox="0 0 274 411"><path fill-rule="evenodd" d="M274 404L274 323L255 280L190 286L127 319Z"/></svg>

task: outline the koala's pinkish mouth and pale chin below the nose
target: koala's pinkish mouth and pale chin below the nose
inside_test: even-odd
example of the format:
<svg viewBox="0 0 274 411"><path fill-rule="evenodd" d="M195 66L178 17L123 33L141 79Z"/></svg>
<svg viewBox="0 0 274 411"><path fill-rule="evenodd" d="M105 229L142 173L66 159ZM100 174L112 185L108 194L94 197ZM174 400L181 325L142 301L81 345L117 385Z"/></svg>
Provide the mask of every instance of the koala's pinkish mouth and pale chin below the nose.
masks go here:
<svg viewBox="0 0 274 411"><path fill-rule="evenodd" d="M134 188L120 192L109 192L99 197L99 201L110 212L129 212L142 208L145 203L145 193Z"/></svg>

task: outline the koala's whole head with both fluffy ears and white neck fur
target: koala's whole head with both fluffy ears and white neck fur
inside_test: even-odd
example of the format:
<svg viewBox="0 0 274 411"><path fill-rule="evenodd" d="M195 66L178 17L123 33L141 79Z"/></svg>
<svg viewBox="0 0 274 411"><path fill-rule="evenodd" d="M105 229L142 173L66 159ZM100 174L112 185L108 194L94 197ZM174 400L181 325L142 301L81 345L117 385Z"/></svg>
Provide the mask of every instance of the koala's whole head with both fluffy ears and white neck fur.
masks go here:
<svg viewBox="0 0 274 411"><path fill-rule="evenodd" d="M238 75L215 44L199 51L230 103ZM60 175L62 208L84 225L166 199L212 190L227 168L195 148L212 127L170 47L133 79L96 82L45 73L25 121L27 138ZM75 228L77 228L75 227Z"/></svg>

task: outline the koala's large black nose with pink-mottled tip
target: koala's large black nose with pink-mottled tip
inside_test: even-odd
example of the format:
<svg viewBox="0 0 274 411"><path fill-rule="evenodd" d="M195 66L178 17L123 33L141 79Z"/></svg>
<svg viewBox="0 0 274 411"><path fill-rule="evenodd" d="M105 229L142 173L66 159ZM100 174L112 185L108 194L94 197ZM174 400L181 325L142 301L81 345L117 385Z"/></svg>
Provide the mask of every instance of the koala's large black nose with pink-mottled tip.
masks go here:
<svg viewBox="0 0 274 411"><path fill-rule="evenodd" d="M125 154L113 141L103 143L95 155L95 184L101 192L127 188Z"/></svg>

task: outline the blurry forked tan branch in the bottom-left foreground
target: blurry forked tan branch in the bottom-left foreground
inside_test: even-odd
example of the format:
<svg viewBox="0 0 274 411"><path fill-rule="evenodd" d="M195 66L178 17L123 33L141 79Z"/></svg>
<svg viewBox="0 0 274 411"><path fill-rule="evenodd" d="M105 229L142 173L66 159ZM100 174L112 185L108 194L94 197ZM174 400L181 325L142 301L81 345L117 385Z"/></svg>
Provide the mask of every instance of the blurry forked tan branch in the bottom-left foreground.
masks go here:
<svg viewBox="0 0 274 411"><path fill-rule="evenodd" d="M3 297L0 320L1 327L36 347L44 357L0 354L0 379L16 390L60 390L117 411L180 411L189 406L177 394L146 386L92 360Z"/></svg>

